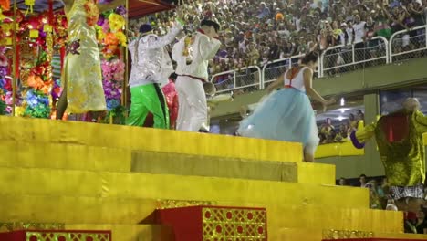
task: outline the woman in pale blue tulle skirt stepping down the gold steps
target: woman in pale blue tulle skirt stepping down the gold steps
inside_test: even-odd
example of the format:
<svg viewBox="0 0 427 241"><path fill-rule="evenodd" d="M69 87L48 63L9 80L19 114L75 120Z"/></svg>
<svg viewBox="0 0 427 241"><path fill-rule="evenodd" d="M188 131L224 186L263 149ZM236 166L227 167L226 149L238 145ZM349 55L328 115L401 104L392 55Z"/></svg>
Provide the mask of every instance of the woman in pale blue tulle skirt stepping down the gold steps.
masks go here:
<svg viewBox="0 0 427 241"><path fill-rule="evenodd" d="M261 100L252 115L240 123L237 133L245 137L301 142L304 161L314 162L318 147L316 117L307 95L318 100L326 110L334 100L323 99L313 89L313 72L318 67L318 53L310 52L301 64L291 68L268 86L268 92L280 89Z"/></svg>

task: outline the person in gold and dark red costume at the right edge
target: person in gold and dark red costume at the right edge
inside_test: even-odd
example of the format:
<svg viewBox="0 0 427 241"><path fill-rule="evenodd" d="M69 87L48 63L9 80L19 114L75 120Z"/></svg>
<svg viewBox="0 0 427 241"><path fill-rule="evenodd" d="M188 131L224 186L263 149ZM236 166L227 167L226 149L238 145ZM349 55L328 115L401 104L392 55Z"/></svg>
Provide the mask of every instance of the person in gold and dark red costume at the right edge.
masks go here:
<svg viewBox="0 0 427 241"><path fill-rule="evenodd" d="M383 116L376 123L351 133L357 148L375 135L386 176L394 199L422 198L425 179L422 133L427 132L427 117L418 100L405 101L404 109Z"/></svg>

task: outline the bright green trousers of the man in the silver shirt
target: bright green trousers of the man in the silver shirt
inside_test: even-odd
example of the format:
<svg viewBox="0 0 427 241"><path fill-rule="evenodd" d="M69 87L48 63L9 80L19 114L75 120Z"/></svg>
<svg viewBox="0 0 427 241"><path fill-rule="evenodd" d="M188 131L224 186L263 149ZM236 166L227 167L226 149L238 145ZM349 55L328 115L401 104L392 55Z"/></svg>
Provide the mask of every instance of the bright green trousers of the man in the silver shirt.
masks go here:
<svg viewBox="0 0 427 241"><path fill-rule="evenodd" d="M158 84L130 88L131 104L127 125L143 126L148 113L154 117L154 128L169 129L169 111Z"/></svg>

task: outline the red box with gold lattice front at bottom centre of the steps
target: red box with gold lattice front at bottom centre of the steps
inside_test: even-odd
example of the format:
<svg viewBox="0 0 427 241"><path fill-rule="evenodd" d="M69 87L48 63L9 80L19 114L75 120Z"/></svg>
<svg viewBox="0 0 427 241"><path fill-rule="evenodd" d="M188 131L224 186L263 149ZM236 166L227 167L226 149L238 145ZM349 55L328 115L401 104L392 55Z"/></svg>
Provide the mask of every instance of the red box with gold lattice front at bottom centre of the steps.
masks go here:
<svg viewBox="0 0 427 241"><path fill-rule="evenodd" d="M266 209L190 206L157 211L157 222L171 225L175 241L267 240Z"/></svg>

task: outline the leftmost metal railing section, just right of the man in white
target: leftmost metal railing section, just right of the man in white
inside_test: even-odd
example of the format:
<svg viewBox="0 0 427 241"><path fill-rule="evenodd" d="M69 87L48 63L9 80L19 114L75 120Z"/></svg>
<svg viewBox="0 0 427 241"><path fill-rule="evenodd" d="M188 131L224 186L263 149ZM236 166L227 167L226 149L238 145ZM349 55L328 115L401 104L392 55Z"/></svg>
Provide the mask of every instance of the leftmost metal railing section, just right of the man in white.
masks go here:
<svg viewBox="0 0 427 241"><path fill-rule="evenodd" d="M263 89L261 68L257 66L215 74L212 76L211 82L215 85L217 93L251 92Z"/></svg>

